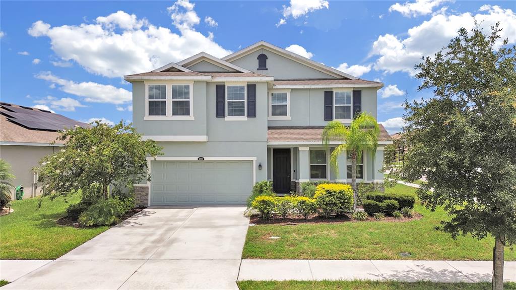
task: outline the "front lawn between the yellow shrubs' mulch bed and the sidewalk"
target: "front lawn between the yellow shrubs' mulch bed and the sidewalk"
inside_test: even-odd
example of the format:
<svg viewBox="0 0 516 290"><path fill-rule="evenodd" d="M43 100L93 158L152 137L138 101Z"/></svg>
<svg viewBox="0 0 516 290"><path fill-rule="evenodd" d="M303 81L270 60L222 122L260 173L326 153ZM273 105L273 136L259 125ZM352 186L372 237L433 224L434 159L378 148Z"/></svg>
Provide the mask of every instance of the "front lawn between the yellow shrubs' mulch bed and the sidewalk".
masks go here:
<svg viewBox="0 0 516 290"><path fill-rule="evenodd" d="M397 184L388 192L413 193L414 188ZM344 222L298 225L255 225L247 232L244 259L327 259L327 260L491 260L494 239L470 236L452 239L434 229L446 213L426 210L408 222ZM278 236L280 239L269 239ZM400 257L409 252L411 256ZM516 260L516 250L505 251L507 261Z"/></svg>

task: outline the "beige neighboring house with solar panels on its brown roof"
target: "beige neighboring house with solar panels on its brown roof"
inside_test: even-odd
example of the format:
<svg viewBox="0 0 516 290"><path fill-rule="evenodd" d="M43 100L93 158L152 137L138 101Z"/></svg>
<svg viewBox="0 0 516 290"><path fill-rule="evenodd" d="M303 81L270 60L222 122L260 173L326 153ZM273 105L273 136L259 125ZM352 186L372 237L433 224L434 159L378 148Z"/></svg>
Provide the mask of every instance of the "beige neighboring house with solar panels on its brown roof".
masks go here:
<svg viewBox="0 0 516 290"><path fill-rule="evenodd" d="M50 111L7 103L0 103L0 115L0 158L11 165L16 176L13 185L23 185L23 198L40 195L37 174L32 168L63 146L63 141L56 140L57 131L88 124Z"/></svg>

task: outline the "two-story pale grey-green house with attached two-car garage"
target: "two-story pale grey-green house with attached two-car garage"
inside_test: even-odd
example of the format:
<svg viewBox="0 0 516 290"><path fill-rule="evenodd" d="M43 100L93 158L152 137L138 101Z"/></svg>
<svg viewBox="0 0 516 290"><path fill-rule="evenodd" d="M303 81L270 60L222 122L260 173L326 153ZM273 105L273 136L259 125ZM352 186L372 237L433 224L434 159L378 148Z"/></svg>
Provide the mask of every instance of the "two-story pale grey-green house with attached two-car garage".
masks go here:
<svg viewBox="0 0 516 290"><path fill-rule="evenodd" d="M280 194L310 180L350 182L345 155L340 174L330 170L322 128L330 120L349 124L354 112L376 117L383 86L263 41L125 80L133 84L134 126L164 147L148 159L152 181L136 187L150 205L245 204L263 180ZM383 181L383 146L392 140L380 128L376 157L366 152L359 162L359 181Z"/></svg>

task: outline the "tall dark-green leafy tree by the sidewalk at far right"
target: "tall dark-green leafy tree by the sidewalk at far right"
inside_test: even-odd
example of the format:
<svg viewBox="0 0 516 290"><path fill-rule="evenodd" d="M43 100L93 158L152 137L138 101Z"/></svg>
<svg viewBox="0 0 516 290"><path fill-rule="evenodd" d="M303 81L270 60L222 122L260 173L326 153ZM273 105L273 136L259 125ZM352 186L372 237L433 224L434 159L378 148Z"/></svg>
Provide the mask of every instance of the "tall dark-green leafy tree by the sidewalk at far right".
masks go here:
<svg viewBox="0 0 516 290"><path fill-rule="evenodd" d="M493 289L503 289L504 247L516 243L516 47L464 28L416 68L418 88L434 96L406 103L409 150L402 176L426 176L417 194L443 206L440 230L452 237L493 236ZM430 190L433 188L433 190Z"/></svg>

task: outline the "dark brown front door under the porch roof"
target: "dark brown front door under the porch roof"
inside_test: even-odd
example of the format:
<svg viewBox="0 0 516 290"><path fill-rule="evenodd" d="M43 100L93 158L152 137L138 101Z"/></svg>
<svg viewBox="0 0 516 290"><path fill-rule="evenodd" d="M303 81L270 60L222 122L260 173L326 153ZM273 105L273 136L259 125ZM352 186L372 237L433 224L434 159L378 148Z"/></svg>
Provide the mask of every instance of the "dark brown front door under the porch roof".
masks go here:
<svg viewBox="0 0 516 290"><path fill-rule="evenodd" d="M277 194L290 192L290 149L272 149L272 185Z"/></svg>

